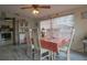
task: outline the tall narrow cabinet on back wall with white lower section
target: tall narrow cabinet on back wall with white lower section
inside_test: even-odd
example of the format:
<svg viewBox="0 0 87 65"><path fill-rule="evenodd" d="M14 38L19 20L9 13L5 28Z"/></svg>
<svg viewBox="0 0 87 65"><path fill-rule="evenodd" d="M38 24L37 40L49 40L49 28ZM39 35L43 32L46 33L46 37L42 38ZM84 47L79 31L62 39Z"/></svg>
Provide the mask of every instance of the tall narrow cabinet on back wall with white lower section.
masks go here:
<svg viewBox="0 0 87 65"><path fill-rule="evenodd" d="M20 44L25 43L25 33L29 32L29 22L20 20L19 22L19 42Z"/></svg>

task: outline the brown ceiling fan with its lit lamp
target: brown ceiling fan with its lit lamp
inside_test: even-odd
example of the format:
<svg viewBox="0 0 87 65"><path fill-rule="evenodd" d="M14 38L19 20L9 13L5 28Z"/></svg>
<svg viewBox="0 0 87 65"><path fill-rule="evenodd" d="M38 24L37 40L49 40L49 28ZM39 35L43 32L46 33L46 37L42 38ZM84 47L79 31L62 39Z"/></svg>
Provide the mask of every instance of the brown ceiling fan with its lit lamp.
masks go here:
<svg viewBox="0 0 87 65"><path fill-rule="evenodd" d="M40 13L39 9L51 9L51 6L39 6L39 4L32 4L31 7L23 7L21 9L33 9L33 13L37 14Z"/></svg>

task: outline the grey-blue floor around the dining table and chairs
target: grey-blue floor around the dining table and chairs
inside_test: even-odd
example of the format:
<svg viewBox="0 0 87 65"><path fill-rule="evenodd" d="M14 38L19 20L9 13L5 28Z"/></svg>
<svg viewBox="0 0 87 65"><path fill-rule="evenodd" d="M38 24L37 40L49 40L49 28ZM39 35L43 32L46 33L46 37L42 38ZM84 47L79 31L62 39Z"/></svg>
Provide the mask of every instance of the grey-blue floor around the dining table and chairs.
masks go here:
<svg viewBox="0 0 87 65"><path fill-rule="evenodd" d="M25 54L26 45L6 45L0 46L0 61L31 61ZM87 54L72 52L72 61L87 61ZM61 53L57 61L66 61L65 54Z"/></svg>

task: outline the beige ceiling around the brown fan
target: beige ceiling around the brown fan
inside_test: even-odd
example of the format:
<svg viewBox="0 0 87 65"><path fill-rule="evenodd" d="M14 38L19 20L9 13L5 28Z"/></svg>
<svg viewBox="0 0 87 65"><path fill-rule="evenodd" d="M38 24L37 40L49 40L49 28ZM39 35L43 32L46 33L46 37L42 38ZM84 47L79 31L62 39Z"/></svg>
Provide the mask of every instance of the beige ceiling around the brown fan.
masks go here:
<svg viewBox="0 0 87 65"><path fill-rule="evenodd" d="M59 13L73 9L77 9L84 7L83 4L51 4L51 9L40 9L40 14L34 15L32 13L32 9L22 10L22 7L30 7L31 4L2 4L0 6L1 11L8 11L10 13L18 13L20 17L26 18L39 18L43 19L43 17L51 15L53 13Z"/></svg>

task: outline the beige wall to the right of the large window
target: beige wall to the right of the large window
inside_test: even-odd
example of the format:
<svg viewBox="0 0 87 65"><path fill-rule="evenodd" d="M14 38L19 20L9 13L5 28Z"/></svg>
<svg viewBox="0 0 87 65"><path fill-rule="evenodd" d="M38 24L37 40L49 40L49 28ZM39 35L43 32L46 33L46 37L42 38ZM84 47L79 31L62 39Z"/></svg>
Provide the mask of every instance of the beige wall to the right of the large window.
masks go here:
<svg viewBox="0 0 87 65"><path fill-rule="evenodd" d="M87 7L86 7L87 8ZM75 10L75 37L72 48L78 52L83 52L83 37L87 35L87 19L84 19L81 12L87 11L86 8L80 8Z"/></svg>

